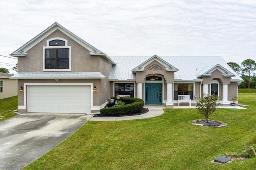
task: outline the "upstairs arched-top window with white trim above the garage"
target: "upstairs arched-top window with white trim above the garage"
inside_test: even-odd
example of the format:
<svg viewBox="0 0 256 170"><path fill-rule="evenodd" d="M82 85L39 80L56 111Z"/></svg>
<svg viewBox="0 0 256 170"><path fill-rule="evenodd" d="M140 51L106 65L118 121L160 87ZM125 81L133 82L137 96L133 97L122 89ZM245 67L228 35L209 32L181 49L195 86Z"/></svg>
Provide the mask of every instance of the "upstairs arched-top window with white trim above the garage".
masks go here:
<svg viewBox="0 0 256 170"><path fill-rule="evenodd" d="M43 47L43 71L71 71L71 46L63 38L47 40Z"/></svg>

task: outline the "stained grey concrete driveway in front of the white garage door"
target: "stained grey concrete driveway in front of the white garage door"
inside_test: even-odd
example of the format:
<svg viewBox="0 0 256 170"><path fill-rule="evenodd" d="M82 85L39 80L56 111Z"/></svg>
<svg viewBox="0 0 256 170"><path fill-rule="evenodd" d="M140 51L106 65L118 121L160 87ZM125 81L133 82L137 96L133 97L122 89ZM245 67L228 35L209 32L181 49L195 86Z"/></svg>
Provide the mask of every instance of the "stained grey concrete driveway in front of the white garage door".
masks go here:
<svg viewBox="0 0 256 170"><path fill-rule="evenodd" d="M93 115L26 113L0 122L0 169L19 170L76 132Z"/></svg>

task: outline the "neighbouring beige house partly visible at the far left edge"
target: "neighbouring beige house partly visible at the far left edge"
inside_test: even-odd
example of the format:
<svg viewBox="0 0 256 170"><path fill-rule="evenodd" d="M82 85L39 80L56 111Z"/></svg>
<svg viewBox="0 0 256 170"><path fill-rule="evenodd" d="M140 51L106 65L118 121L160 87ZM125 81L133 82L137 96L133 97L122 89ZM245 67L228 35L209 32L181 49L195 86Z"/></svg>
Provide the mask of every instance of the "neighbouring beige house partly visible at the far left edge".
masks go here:
<svg viewBox="0 0 256 170"><path fill-rule="evenodd" d="M11 74L0 72L0 99L18 95L17 80L10 80Z"/></svg>

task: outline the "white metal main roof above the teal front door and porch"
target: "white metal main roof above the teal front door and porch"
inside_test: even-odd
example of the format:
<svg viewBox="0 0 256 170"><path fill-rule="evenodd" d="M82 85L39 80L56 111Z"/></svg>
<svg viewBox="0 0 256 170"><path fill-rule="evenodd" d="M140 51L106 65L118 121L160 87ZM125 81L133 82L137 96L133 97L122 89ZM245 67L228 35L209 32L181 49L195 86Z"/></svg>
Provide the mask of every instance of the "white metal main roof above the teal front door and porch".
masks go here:
<svg viewBox="0 0 256 170"><path fill-rule="evenodd" d="M132 69L146 62L152 56L110 56L117 64L112 66L109 79L115 80L136 80L136 73ZM205 72L211 67L219 64L232 74L231 80L243 81L243 79L230 68L220 56L158 56L167 63L170 63L179 71L174 72L174 80L194 81L202 80L197 75Z"/></svg>

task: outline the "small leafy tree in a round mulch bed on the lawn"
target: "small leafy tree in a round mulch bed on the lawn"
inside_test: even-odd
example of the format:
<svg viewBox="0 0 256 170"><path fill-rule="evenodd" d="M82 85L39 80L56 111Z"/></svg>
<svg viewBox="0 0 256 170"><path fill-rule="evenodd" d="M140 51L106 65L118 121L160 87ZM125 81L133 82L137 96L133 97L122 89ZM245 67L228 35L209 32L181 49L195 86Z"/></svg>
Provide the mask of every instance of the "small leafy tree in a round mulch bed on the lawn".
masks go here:
<svg viewBox="0 0 256 170"><path fill-rule="evenodd" d="M204 98L200 98L200 100L198 101L196 109L198 114L204 115L208 123L209 115L211 115L219 106L220 97L214 94L203 94L203 96Z"/></svg>

